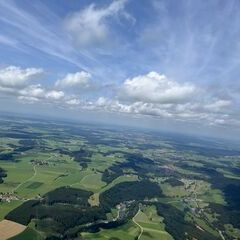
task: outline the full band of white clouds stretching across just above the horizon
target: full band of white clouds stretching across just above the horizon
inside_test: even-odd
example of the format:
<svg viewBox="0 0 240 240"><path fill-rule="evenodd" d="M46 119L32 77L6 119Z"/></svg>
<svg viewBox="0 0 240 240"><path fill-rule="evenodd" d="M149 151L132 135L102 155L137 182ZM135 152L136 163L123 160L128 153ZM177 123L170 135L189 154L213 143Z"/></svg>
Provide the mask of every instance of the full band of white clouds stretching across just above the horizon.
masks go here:
<svg viewBox="0 0 240 240"><path fill-rule="evenodd" d="M53 104L66 109L71 107L76 111L88 109L208 126L240 126L240 121L235 117L239 115L236 113L234 99L223 98L217 92L208 92L197 85L170 80L155 71L128 78L119 86L108 90L108 95L112 97L101 96L97 99L91 97L91 94L87 99L81 96L91 78L87 72L68 73L52 87L44 87L41 83L33 84L43 73L40 68L2 68L0 92L24 103ZM59 90L59 87L63 90ZM64 89L69 87L75 90L77 88L81 93L65 92ZM100 94L101 89L99 91Z"/></svg>

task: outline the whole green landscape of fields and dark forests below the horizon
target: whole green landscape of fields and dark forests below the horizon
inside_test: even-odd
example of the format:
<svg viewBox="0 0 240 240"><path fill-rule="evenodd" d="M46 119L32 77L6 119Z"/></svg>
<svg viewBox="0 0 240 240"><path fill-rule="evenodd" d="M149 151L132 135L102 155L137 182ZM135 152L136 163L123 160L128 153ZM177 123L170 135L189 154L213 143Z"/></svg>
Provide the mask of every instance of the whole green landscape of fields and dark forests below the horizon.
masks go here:
<svg viewBox="0 0 240 240"><path fill-rule="evenodd" d="M240 239L240 147L1 117L1 226L6 240Z"/></svg>

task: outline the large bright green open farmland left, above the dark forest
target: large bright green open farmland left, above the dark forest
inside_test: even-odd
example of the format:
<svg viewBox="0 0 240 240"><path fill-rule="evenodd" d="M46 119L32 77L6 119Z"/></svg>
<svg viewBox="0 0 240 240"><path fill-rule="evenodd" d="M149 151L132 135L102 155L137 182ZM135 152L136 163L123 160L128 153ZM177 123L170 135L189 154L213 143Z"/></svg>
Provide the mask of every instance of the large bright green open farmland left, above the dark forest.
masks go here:
<svg viewBox="0 0 240 240"><path fill-rule="evenodd" d="M48 161L47 165L33 165L31 160ZM24 199L35 198L57 187L78 184L88 171L68 157L57 154L29 154L18 162L1 162L8 172L0 192L14 192ZM77 187L77 186L76 186Z"/></svg>

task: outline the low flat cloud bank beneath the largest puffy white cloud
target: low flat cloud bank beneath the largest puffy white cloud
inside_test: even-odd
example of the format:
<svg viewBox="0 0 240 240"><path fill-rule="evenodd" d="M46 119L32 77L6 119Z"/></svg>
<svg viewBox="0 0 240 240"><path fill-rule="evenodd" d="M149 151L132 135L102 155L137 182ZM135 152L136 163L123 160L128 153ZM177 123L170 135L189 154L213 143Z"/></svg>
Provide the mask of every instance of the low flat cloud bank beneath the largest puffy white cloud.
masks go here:
<svg viewBox="0 0 240 240"><path fill-rule="evenodd" d="M218 100L223 101L223 100ZM134 115L151 116L160 119L171 119L179 122L199 123L201 125L223 126L239 125L239 122L233 121L231 114L227 114L225 106L223 112L210 111L204 102L188 103L147 103L147 102L121 102L119 100L100 97L95 103L85 106L89 109L99 109L108 112L120 112Z"/></svg>

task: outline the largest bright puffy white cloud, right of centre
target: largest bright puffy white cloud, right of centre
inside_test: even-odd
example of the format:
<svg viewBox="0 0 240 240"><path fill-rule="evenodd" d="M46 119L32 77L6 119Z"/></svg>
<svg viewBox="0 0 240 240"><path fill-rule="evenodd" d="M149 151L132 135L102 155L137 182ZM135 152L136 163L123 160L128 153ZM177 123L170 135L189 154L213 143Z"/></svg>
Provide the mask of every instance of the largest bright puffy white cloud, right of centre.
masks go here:
<svg viewBox="0 0 240 240"><path fill-rule="evenodd" d="M195 90L195 86L190 83L180 84L165 75L150 72L127 79L123 83L121 95L134 101L178 103L188 100Z"/></svg>

